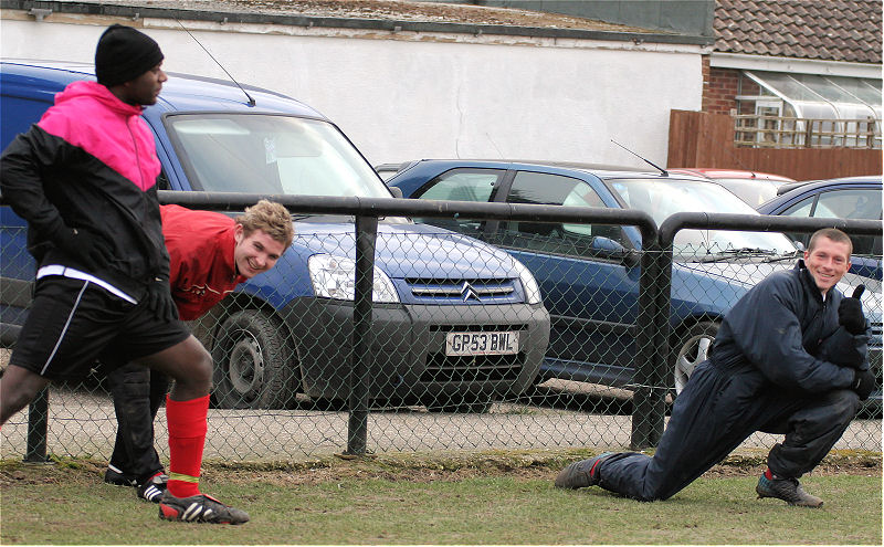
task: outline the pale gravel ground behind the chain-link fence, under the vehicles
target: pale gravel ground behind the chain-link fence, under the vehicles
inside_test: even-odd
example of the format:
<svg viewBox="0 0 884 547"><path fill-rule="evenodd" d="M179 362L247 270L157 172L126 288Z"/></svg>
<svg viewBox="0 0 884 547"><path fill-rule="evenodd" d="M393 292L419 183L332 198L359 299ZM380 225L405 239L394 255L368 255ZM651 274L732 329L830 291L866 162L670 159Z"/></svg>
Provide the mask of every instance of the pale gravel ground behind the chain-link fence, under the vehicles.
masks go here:
<svg viewBox="0 0 884 547"><path fill-rule="evenodd" d="M307 407L309 408L309 407ZM27 445L27 411L0 432L0 457L20 457ZM298 461L340 454L348 413L337 410L210 410L207 459ZM495 403L487 414L431 413L423 407L369 414L368 450L375 453L564 449L629 445L631 417L594 414L530 403ZM106 396L52 388L48 450L56 455L108 459L116 432ZM856 420L839 450L880 451L880 420ZM780 438L757 433L741 449L765 449ZM168 457L165 414L157 420L157 449Z"/></svg>

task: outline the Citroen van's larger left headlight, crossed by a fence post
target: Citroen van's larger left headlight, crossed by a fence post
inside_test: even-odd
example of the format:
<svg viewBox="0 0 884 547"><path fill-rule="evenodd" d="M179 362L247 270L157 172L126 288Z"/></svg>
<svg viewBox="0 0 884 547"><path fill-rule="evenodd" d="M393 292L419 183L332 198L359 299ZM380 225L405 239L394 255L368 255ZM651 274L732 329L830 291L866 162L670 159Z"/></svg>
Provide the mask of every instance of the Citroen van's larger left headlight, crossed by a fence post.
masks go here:
<svg viewBox="0 0 884 547"><path fill-rule="evenodd" d="M354 299L356 261L330 254L314 254L307 261L311 282L316 296L338 301ZM390 277L375 266L375 285L371 299L378 303L398 303L399 294Z"/></svg>

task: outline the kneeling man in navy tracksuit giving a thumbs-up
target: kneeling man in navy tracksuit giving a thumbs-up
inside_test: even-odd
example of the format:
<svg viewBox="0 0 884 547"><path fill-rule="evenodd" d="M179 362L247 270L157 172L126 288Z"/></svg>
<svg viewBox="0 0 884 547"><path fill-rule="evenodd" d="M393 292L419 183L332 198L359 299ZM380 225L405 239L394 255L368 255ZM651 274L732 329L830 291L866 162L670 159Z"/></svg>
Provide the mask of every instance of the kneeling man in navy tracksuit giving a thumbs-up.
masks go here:
<svg viewBox="0 0 884 547"><path fill-rule="evenodd" d="M815 232L803 261L769 275L725 316L712 357L675 400L653 456L603 453L562 470L556 486L666 499L765 431L785 439L770 450L758 497L821 506L798 478L820 463L875 387L864 287L852 297L834 288L851 252L844 232Z"/></svg>

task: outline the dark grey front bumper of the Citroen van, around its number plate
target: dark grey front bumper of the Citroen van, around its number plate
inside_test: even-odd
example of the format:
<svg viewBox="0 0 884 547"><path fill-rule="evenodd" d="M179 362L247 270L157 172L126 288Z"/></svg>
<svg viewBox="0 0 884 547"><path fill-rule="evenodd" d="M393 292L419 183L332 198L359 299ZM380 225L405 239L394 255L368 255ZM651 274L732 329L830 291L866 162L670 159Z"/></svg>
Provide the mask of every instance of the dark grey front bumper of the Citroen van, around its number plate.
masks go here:
<svg viewBox="0 0 884 547"><path fill-rule="evenodd" d="M302 390L346 399L354 362L351 302L298 298L281 315L292 330ZM518 353L445 355L450 332L518 332ZM420 306L376 304L368 337L370 398L438 393L522 393L532 385L549 344L541 305Z"/></svg>

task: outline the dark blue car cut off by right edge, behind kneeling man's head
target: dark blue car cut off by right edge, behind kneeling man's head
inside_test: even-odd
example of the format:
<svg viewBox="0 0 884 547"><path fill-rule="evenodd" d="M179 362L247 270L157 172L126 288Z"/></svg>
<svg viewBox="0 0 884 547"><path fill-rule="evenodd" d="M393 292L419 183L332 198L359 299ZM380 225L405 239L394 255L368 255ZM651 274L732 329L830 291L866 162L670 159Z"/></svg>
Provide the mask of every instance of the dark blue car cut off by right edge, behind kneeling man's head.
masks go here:
<svg viewBox="0 0 884 547"><path fill-rule="evenodd" d="M881 175L785 185L785 192L760 204L762 214L881 220ZM808 234L788 234L807 245ZM850 271L881 281L881 235L851 235Z"/></svg>

